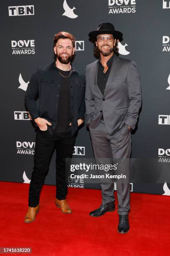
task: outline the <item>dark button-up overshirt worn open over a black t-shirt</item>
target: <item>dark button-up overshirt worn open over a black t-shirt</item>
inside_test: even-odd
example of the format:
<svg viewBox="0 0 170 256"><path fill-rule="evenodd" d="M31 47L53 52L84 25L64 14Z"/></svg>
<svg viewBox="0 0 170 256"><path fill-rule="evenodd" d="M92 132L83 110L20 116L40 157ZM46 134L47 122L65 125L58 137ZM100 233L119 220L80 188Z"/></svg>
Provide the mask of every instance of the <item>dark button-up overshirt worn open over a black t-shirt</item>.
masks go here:
<svg viewBox="0 0 170 256"><path fill-rule="evenodd" d="M72 65L71 65L72 66ZM52 135L58 121L58 106L61 88L61 75L57 70L55 61L52 64L38 68L28 84L25 93L25 105L32 117L41 117L52 123L48 131ZM77 119L84 119L85 111L85 76L79 74L74 67L70 75L70 110L71 133L77 131ZM37 102L38 101L38 107Z"/></svg>

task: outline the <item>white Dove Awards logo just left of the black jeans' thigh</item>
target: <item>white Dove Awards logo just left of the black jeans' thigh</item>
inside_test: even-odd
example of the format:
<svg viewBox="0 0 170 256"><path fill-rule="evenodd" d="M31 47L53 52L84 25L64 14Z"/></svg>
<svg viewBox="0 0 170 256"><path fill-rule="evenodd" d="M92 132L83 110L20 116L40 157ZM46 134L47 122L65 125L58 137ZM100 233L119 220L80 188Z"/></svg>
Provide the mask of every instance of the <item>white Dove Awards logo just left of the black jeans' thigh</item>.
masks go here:
<svg viewBox="0 0 170 256"><path fill-rule="evenodd" d="M34 155L35 142L29 141L16 141L17 154Z"/></svg>

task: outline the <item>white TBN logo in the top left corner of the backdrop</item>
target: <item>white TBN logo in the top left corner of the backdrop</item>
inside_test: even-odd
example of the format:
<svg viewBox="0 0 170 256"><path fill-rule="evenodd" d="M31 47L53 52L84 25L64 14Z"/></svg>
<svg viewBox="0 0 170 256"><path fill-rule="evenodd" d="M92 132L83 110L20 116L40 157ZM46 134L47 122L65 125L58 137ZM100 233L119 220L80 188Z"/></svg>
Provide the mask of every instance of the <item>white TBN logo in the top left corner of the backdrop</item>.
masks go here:
<svg viewBox="0 0 170 256"><path fill-rule="evenodd" d="M9 6L9 16L34 15L34 5Z"/></svg>

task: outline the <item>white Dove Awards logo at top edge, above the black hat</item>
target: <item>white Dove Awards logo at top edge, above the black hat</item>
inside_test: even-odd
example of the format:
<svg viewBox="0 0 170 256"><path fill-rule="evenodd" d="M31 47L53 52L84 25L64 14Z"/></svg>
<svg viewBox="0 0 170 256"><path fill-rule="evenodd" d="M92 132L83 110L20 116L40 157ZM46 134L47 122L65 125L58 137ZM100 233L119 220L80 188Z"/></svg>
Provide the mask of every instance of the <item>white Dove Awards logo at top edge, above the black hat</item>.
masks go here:
<svg viewBox="0 0 170 256"><path fill-rule="evenodd" d="M116 13L135 13L135 0L108 0L109 14Z"/></svg>

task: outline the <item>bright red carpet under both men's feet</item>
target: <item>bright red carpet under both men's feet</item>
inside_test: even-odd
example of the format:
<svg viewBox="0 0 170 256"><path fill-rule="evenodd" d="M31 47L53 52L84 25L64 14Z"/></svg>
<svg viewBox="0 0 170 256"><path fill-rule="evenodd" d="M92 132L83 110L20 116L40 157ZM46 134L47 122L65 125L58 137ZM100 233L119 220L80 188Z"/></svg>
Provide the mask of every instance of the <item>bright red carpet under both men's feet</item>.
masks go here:
<svg viewBox="0 0 170 256"><path fill-rule="evenodd" d="M132 193L130 231L119 234L116 211L88 215L101 203L100 191L93 189L69 188L73 213L65 215L55 206L55 187L44 186L36 220L24 223L28 188L0 182L0 247L31 247L30 255L40 256L170 256L168 196Z"/></svg>

